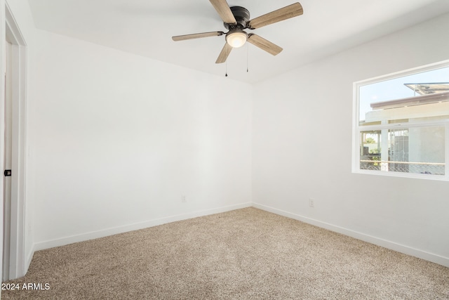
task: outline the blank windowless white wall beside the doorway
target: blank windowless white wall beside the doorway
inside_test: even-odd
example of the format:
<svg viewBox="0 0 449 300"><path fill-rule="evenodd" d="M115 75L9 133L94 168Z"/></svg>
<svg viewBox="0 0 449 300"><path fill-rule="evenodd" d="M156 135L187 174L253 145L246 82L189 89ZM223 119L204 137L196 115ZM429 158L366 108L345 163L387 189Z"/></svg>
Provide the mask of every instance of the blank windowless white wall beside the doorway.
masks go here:
<svg viewBox="0 0 449 300"><path fill-rule="evenodd" d="M250 85L34 37L36 249L250 205Z"/></svg>

